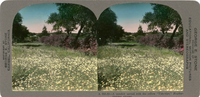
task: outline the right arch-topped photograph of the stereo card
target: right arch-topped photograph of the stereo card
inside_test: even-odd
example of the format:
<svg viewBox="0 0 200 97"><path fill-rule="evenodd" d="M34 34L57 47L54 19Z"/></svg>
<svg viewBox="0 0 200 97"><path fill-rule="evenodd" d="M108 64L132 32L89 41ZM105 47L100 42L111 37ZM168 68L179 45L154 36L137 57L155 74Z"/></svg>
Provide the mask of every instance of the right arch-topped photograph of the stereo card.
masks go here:
<svg viewBox="0 0 200 97"><path fill-rule="evenodd" d="M96 23L98 91L183 91L183 25L175 9L118 4Z"/></svg>

